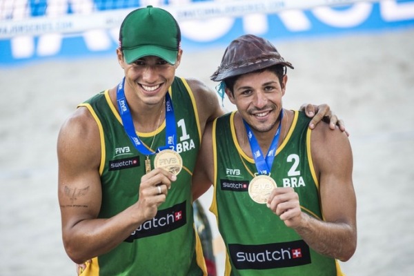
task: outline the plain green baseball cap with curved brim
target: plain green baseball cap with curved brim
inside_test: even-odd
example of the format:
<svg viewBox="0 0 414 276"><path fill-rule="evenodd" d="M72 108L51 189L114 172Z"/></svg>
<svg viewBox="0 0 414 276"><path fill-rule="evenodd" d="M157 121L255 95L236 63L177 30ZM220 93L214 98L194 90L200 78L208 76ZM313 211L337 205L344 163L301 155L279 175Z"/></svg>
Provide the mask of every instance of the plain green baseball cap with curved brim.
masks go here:
<svg viewBox="0 0 414 276"><path fill-rule="evenodd" d="M127 63L156 56L175 64L180 43L181 32L174 17L152 6L130 12L119 30L119 45Z"/></svg>

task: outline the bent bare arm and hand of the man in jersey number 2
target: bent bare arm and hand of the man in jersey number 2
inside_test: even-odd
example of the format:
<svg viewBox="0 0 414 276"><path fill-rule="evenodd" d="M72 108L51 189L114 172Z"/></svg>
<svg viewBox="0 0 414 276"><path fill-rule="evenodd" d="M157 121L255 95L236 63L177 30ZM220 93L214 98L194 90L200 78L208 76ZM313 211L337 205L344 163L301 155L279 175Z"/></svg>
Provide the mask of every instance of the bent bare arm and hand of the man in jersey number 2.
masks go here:
<svg viewBox="0 0 414 276"><path fill-rule="evenodd" d="M292 188L273 190L268 206L315 251L347 261L357 244L351 146L346 134L324 124L313 130L311 145L325 221L302 213Z"/></svg>

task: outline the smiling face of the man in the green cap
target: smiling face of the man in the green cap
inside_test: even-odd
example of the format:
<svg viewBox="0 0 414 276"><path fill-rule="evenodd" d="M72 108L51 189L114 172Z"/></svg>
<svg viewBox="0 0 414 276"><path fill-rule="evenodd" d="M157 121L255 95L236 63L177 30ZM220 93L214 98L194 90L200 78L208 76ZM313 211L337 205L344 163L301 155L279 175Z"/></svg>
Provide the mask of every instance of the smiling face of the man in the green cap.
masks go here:
<svg viewBox="0 0 414 276"><path fill-rule="evenodd" d="M118 50L118 61L125 73L127 97L128 94L135 95L141 103L147 105L164 101L166 92L174 81L175 70L181 61L181 53L182 51L179 50L174 65L155 56L141 57L132 63L126 63L121 50Z"/></svg>

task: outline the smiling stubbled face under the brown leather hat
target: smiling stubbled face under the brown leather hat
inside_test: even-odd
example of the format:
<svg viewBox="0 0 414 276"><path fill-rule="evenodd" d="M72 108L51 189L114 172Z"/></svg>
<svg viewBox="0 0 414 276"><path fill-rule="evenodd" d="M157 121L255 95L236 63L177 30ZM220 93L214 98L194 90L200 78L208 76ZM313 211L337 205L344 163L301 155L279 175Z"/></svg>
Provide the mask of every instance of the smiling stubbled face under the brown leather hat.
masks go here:
<svg viewBox="0 0 414 276"><path fill-rule="evenodd" d="M238 77L233 93L226 88L226 94L254 132L269 132L276 128L287 79L284 75L280 83L270 70L251 72Z"/></svg>

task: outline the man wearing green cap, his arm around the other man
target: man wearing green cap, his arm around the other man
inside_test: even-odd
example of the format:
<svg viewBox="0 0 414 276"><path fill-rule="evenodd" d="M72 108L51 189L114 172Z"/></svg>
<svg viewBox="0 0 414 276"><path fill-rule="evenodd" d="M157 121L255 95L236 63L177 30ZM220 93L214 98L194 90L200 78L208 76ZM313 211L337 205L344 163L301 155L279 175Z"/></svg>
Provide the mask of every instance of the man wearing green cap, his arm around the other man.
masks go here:
<svg viewBox="0 0 414 276"><path fill-rule="evenodd" d="M63 244L75 263L88 260L82 275L207 273L190 183L206 122L223 110L203 83L175 77L180 42L165 10L130 12L117 49L124 79L59 132Z"/></svg>

